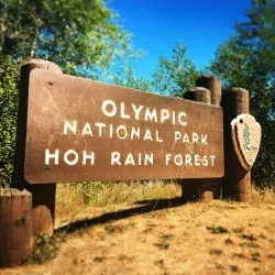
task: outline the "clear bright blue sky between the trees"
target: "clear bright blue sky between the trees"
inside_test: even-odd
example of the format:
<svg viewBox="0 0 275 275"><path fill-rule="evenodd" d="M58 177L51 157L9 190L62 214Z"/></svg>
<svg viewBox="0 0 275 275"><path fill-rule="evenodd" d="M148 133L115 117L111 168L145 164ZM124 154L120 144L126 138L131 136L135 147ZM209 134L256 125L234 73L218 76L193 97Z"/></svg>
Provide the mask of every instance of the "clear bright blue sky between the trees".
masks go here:
<svg viewBox="0 0 275 275"><path fill-rule="evenodd" d="M151 78L158 57L172 55L180 42L199 69L209 65L218 45L234 33L234 22L245 21L251 0L112 0L124 30L133 34L134 48L145 56L131 62L136 76Z"/></svg>

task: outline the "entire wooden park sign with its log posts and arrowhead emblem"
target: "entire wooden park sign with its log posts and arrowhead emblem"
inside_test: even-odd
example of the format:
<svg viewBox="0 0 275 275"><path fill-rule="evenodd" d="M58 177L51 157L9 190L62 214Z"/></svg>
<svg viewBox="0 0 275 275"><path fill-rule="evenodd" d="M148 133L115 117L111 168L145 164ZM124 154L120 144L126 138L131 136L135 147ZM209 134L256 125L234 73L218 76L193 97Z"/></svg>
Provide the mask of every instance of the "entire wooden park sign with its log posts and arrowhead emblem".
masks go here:
<svg viewBox="0 0 275 275"><path fill-rule="evenodd" d="M183 178L185 201L199 194L208 202L220 186L226 197L251 201L261 128L238 117L249 113L249 92L221 94L212 76L196 86L179 99L63 75L46 61L23 65L15 189L0 191L0 267L21 263L32 235L53 234L56 183Z"/></svg>

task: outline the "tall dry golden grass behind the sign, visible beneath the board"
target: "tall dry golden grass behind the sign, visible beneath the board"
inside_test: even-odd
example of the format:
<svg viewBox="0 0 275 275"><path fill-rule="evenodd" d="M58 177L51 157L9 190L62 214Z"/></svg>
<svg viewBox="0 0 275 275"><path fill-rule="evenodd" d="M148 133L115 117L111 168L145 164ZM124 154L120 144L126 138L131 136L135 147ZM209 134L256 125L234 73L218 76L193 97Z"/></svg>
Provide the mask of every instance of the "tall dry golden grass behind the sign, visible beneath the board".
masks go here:
<svg viewBox="0 0 275 275"><path fill-rule="evenodd" d="M180 186L175 182L128 182L128 183L73 183L57 185L56 205L106 207L116 204L132 204L138 200L169 199L182 195ZM275 186L253 187L252 204L275 205ZM238 206L228 205L235 209Z"/></svg>

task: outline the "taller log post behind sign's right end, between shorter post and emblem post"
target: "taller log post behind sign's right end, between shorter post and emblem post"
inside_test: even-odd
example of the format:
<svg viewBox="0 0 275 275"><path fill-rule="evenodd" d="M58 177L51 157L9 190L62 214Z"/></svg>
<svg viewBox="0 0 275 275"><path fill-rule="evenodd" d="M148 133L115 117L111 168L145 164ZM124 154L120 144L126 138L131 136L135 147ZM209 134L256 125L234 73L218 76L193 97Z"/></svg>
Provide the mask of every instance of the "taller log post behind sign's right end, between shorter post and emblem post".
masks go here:
<svg viewBox="0 0 275 275"><path fill-rule="evenodd" d="M216 76L204 75L196 79L196 86L205 87L211 92L211 105L221 105L221 79ZM212 182L213 198L220 198L221 178L213 178L209 180Z"/></svg>

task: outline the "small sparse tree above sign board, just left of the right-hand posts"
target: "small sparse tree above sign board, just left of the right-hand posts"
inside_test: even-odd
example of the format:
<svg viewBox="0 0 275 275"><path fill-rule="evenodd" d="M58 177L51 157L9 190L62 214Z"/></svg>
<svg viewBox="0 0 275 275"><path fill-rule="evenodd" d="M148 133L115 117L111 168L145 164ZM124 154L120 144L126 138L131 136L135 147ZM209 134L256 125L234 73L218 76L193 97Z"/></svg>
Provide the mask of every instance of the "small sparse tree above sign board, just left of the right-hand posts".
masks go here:
<svg viewBox="0 0 275 275"><path fill-rule="evenodd" d="M187 58L186 47L178 43L173 48L172 58L160 57L153 74L153 89L164 95L183 97L183 94L195 86L198 70Z"/></svg>

